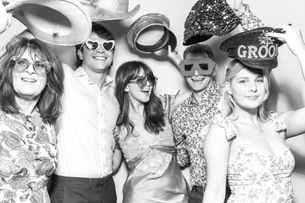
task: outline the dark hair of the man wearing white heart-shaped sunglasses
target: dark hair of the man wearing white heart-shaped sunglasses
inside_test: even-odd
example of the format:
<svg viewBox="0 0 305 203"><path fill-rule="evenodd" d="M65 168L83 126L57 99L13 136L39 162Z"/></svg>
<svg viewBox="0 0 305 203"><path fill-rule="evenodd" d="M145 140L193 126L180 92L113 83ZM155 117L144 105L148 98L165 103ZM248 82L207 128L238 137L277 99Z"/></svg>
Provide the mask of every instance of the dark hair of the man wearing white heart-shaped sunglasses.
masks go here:
<svg viewBox="0 0 305 203"><path fill-rule="evenodd" d="M104 40L115 40L112 33L104 26L102 26L99 23L94 23L92 22L92 29L91 29L91 33L95 33L97 34L97 36L99 36L100 38L104 39ZM75 45L75 54L76 54L76 62L75 62L75 67L78 68L82 65L83 60L81 60L77 54L78 50L81 50L81 52L84 51L84 46L81 47L82 44L77 44ZM115 45L112 49L113 53L114 53L114 49L115 49ZM113 62L111 63L110 67L108 69L111 68L111 66L113 65Z"/></svg>

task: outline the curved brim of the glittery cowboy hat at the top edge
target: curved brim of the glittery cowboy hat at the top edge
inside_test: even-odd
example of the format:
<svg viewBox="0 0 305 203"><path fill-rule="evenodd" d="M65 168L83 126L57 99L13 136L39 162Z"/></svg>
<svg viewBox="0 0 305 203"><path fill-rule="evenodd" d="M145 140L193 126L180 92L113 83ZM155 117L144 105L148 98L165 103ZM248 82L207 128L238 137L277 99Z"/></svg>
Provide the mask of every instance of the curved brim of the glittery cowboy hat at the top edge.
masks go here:
<svg viewBox="0 0 305 203"><path fill-rule="evenodd" d="M138 13L140 9L140 5L136 5L134 9L127 13L120 13L120 12L112 12L106 9L102 9L93 4L83 4L84 7L88 10L91 21L102 21L102 20L120 20L120 19L128 19L135 14Z"/></svg>

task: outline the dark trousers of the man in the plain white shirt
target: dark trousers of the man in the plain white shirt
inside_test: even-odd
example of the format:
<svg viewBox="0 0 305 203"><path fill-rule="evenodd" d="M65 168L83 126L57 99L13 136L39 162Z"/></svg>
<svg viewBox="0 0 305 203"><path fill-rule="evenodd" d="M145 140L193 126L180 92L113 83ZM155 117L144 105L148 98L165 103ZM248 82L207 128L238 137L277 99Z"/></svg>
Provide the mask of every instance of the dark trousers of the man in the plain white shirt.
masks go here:
<svg viewBox="0 0 305 203"><path fill-rule="evenodd" d="M53 174L48 193L52 203L117 203L112 175L78 178Z"/></svg>

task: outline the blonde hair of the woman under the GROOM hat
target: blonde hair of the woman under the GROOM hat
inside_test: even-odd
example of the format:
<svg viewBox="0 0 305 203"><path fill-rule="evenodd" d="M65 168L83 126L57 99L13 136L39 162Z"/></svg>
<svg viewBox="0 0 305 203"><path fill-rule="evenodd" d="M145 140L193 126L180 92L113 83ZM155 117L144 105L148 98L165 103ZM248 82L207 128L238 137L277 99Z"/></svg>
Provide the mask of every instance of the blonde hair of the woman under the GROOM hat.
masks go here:
<svg viewBox="0 0 305 203"><path fill-rule="evenodd" d="M236 103L234 99L232 98L231 94L227 92L227 89L225 87L225 83L228 82L231 84L234 77L237 75L237 73L242 70L243 68L250 68L244 64L242 64L238 59L233 59L229 65L227 66L225 70L224 75L224 88L223 88L223 105L222 105L222 113L225 116L230 116L231 119L236 120L239 116L238 109L236 108ZM264 78L264 87L266 90L266 94L264 97L264 101L260 104L260 106L257 109L257 115L260 117L261 121L267 121L268 116L266 112L266 100L269 96L269 90L270 90L270 80L269 80L269 72L268 70L261 69L263 72L263 78Z"/></svg>

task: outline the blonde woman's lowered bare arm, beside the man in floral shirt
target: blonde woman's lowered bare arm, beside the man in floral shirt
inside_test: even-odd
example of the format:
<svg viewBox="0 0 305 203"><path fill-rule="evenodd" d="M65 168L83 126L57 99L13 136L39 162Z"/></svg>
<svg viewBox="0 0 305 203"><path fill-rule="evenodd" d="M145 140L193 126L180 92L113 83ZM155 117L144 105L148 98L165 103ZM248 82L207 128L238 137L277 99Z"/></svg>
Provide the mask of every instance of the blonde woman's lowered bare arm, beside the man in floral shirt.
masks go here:
<svg viewBox="0 0 305 203"><path fill-rule="evenodd" d="M223 203L230 156L230 142L224 128L212 124L203 142L203 153L207 168L207 185L203 203Z"/></svg>

